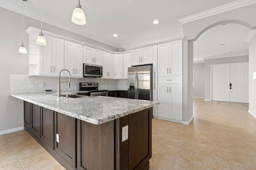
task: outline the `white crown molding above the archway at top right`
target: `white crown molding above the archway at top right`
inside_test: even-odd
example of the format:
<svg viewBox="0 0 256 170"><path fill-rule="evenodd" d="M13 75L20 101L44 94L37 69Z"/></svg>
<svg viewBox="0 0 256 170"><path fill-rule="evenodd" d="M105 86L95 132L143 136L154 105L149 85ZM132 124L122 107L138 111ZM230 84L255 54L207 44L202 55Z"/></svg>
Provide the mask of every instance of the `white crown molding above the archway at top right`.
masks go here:
<svg viewBox="0 0 256 170"><path fill-rule="evenodd" d="M218 6L216 8L212 8L210 10L206 10L206 11L199 12L199 13L196 13L196 14L193 14L193 15L190 15L190 16L186 16L184 18L180 18L178 20L182 24L184 24L184 23L192 22L192 21L199 20L199 19L202 19L202 18L206 18L208 16L213 16L213 15L216 15L216 14L220 14L222 12L227 12L227 11L230 11L230 10L234 10L236 8L241 8L243 6L248 6L248 5L251 5L251 4L255 4L255 3L256 3L256 0L237 0L237 1L234 1L234 2L231 2L231 3L228 3L228 4L224 4L222 6Z"/></svg>

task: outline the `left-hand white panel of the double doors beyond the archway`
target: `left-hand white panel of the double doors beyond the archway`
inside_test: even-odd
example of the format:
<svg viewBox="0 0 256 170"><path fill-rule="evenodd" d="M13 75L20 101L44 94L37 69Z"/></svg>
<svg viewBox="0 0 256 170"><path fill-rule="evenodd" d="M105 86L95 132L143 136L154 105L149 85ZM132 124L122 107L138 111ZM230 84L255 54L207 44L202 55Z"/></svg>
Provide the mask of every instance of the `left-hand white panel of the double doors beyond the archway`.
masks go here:
<svg viewBox="0 0 256 170"><path fill-rule="evenodd" d="M212 100L230 101L229 71L229 64L212 66Z"/></svg>

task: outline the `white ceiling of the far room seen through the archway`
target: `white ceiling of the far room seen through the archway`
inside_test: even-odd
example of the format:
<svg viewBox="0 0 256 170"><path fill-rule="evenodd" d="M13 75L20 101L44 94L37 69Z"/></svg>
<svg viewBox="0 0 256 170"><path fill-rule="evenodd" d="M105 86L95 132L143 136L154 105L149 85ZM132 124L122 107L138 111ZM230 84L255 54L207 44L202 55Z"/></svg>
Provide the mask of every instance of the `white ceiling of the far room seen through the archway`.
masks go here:
<svg viewBox="0 0 256 170"><path fill-rule="evenodd" d="M248 54L248 43L245 40L250 31L234 23L212 27L194 41L194 62L204 61L203 58L207 57L211 59Z"/></svg>

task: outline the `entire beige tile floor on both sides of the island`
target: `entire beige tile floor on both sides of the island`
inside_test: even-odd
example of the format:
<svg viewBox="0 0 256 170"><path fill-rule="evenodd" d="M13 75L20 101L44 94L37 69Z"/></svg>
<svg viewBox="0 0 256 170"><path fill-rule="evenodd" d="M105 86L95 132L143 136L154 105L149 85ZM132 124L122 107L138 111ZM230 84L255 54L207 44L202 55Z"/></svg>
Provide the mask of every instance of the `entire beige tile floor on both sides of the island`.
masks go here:
<svg viewBox="0 0 256 170"><path fill-rule="evenodd" d="M150 170L256 170L256 118L248 107L194 99L194 120L152 119ZM65 169L26 131L0 135L0 170Z"/></svg>

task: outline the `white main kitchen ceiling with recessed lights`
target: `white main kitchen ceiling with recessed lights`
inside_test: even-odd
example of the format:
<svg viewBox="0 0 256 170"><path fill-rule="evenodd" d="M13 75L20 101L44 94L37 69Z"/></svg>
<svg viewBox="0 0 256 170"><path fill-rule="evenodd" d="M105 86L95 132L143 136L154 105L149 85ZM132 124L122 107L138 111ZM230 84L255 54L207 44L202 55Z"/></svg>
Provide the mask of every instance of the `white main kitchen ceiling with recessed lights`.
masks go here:
<svg viewBox="0 0 256 170"><path fill-rule="evenodd" d="M179 18L235 0L80 0L86 25L71 21L78 0L43 0L43 21L114 47L134 47L182 35ZM41 0L24 2L24 14L40 18ZM22 0L0 6L21 13ZM152 24L159 20L157 25ZM38 25L40 27L40 25ZM118 37L112 35L116 33Z"/></svg>

